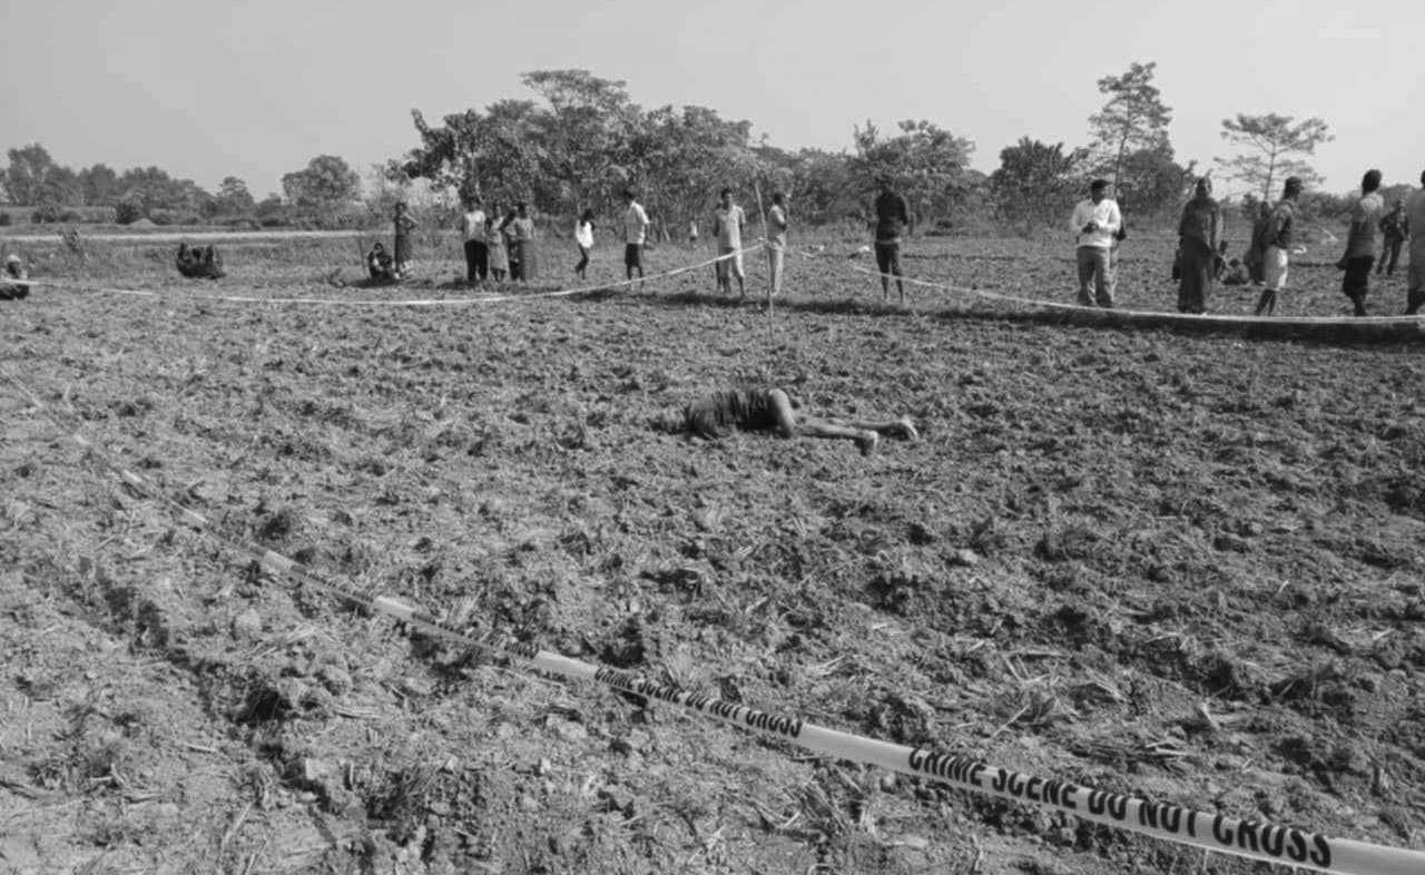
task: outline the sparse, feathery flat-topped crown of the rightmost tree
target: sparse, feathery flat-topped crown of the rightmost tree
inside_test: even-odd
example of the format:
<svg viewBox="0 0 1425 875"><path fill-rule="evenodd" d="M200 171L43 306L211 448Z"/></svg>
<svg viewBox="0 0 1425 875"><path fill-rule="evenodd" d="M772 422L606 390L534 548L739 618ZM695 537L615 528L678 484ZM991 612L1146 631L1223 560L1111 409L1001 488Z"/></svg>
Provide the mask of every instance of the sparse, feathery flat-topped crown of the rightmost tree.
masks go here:
<svg viewBox="0 0 1425 875"><path fill-rule="evenodd" d="M1335 140L1331 127L1320 118L1295 121L1277 113L1238 113L1235 118L1224 118L1221 137L1244 151L1217 158L1217 165L1224 175L1241 180L1265 200L1273 195L1273 184L1285 177L1300 177L1308 185L1320 184L1321 174L1297 155L1315 154L1318 145Z"/></svg>

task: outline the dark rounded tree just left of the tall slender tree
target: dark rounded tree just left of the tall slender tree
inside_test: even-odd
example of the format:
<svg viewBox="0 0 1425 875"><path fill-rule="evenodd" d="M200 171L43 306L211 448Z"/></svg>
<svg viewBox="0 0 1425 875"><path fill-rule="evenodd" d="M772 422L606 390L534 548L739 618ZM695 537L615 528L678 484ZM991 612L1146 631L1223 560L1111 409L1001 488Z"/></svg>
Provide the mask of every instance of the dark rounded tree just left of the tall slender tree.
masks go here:
<svg viewBox="0 0 1425 875"><path fill-rule="evenodd" d="M1063 143L1049 145L1020 137L999 152L999 168L989 175L999 214L1010 221L1053 225L1067 221L1083 192L1089 151L1064 151Z"/></svg>

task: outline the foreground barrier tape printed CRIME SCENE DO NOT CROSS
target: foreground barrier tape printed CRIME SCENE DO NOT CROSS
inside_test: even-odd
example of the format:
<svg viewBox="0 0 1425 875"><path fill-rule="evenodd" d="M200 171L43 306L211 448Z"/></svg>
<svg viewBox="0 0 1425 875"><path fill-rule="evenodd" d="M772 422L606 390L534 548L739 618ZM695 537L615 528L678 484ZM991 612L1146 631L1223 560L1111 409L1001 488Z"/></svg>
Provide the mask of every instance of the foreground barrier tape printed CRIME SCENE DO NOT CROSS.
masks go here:
<svg viewBox="0 0 1425 875"><path fill-rule="evenodd" d="M1025 772L990 765L979 760L911 748L821 727L791 714L762 711L748 705L722 701L712 695L663 684L620 668L596 666L559 653L540 650L534 644L502 641L496 636L475 637L446 624L443 620L390 596L362 596L323 577L302 563L275 553L255 542L235 539L212 524L205 516L170 497L157 483L134 473L110 457L101 446L81 435L77 418L61 415L46 405L9 369L4 378L30 399L30 403L68 438L98 459L120 480L174 512L181 520L229 550L256 561L274 579L286 577L298 586L326 593L370 613L385 614L435 637L487 654L509 657L547 674L570 680L593 681L603 687L644 697L650 701L680 705L714 720L744 730L789 741L808 751L876 765L916 778L929 778L959 789L1035 802L1072 814L1080 819L1104 824L1117 829L1139 832L1180 845L1191 845L1235 856L1258 859L1321 872L1348 875L1421 875L1425 872L1425 851L1372 845L1354 839L1328 838L1318 832L1282 827L1261 821L1231 818L1223 814L1194 811L1181 805L1140 797L1094 789L1069 781L1040 778Z"/></svg>

